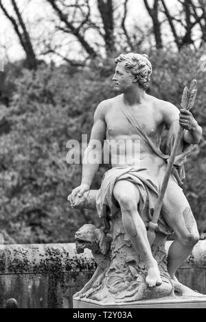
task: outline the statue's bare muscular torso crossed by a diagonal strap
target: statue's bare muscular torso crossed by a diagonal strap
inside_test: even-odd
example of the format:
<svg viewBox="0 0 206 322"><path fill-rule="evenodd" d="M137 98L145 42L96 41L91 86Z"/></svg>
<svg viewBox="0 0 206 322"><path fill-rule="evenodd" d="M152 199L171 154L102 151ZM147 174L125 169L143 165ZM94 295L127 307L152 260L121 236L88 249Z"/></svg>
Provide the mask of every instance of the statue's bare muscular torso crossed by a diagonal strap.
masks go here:
<svg viewBox="0 0 206 322"><path fill-rule="evenodd" d="M123 102L122 102L123 103ZM122 105L126 109L127 106ZM163 116L152 101L129 107L144 132L153 141L159 141L163 129ZM119 108L119 97L115 97L111 108L106 112L106 140L111 145L112 166L136 166L146 168L154 175L165 173L165 162L137 133ZM117 143L117 145L115 145Z"/></svg>

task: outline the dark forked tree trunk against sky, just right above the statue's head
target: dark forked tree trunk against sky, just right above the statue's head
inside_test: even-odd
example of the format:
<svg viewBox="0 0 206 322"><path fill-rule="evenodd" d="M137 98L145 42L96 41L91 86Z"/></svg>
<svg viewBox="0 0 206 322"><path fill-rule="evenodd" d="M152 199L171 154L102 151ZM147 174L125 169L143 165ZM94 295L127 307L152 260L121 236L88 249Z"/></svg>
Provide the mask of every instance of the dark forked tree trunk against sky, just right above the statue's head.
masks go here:
<svg viewBox="0 0 206 322"><path fill-rule="evenodd" d="M148 14L152 18L156 47L157 49L161 49L163 42L161 36L161 21L159 20L159 0L154 0L152 7L150 7L148 0L144 0L144 4Z"/></svg>

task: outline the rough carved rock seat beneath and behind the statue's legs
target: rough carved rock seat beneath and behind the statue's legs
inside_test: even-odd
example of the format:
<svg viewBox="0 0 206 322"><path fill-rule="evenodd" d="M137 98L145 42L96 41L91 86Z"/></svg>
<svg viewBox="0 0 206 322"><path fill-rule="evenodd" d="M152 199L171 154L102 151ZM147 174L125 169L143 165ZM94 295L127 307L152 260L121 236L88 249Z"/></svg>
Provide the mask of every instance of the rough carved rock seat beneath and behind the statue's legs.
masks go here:
<svg viewBox="0 0 206 322"><path fill-rule="evenodd" d="M113 241L107 267L100 271L100 275L95 276L95 282L89 289L80 290L80 293L74 297L100 302L125 303L174 295L174 285L167 270L165 235L157 234L152 245L152 254L158 262L162 284L148 287L146 266L141 259L141 254L135 251L124 230L120 212L113 218L110 234ZM86 240L86 236L84 238Z"/></svg>

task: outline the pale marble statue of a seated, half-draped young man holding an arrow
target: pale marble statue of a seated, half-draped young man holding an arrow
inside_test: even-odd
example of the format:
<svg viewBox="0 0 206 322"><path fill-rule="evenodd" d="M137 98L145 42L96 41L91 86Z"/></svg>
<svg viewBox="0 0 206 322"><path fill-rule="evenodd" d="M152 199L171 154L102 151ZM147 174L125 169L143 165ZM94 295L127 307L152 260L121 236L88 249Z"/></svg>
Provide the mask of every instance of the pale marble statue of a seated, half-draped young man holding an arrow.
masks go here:
<svg viewBox="0 0 206 322"><path fill-rule="evenodd" d="M115 63L112 80L118 95L102 101L95 111L84 153L82 182L68 197L72 208L95 209L104 221L100 230L84 225L76 232L77 251L90 248L98 269L74 297L122 303L175 295L201 296L183 286L175 273L199 239L182 182L187 154L201 140L202 129L183 102L179 110L147 94L152 74L147 55L122 54ZM168 129L165 151L160 149L163 127ZM154 228L155 240L150 245L152 214L180 128L183 135ZM100 190L90 190L99 163L85 160L89 160L97 140L101 146L104 140L110 145L111 169L104 174ZM101 156L102 149L98 153ZM175 240L166 256L165 240L172 233Z"/></svg>

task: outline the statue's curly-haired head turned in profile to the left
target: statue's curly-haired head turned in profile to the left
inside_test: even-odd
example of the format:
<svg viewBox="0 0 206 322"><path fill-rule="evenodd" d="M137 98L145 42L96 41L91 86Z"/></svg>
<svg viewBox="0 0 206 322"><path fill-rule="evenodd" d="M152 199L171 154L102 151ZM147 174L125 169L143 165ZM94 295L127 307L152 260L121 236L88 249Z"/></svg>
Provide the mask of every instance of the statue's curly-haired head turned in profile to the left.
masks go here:
<svg viewBox="0 0 206 322"><path fill-rule="evenodd" d="M136 83L139 88L147 90L152 74L152 64L148 55L139 53L121 54L115 59L117 64L113 81L119 92L126 92L127 88Z"/></svg>

